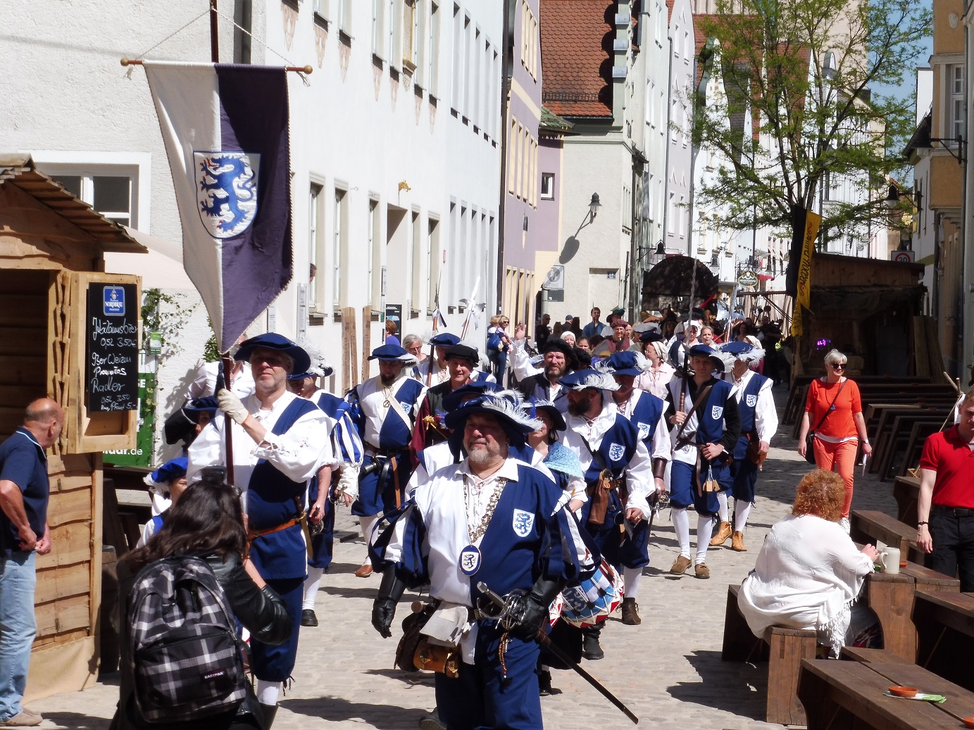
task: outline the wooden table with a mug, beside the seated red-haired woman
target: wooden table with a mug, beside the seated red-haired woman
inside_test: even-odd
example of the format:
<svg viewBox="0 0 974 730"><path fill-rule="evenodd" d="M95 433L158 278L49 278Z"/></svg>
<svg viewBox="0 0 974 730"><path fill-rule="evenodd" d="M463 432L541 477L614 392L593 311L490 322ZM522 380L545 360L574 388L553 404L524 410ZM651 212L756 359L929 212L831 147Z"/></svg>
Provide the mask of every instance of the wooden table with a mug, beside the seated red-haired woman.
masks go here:
<svg viewBox="0 0 974 730"><path fill-rule="evenodd" d="M912 563L898 573L866 576L866 604L880 618L883 646L908 662L917 660L917 628L912 616L918 589L957 592L960 581Z"/></svg>

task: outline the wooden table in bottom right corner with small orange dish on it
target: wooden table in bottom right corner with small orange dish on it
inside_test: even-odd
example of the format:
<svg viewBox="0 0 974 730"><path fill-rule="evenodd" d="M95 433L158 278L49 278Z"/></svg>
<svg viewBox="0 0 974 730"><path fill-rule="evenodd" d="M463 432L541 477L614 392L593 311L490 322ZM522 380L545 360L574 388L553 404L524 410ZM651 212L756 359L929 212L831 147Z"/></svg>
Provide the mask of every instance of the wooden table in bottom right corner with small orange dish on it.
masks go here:
<svg viewBox="0 0 974 730"><path fill-rule="evenodd" d="M886 697L886 689L895 684L942 694L947 702L935 705ZM803 659L798 694L808 730L955 730L961 727L962 717L974 716L974 693L896 659L868 664Z"/></svg>

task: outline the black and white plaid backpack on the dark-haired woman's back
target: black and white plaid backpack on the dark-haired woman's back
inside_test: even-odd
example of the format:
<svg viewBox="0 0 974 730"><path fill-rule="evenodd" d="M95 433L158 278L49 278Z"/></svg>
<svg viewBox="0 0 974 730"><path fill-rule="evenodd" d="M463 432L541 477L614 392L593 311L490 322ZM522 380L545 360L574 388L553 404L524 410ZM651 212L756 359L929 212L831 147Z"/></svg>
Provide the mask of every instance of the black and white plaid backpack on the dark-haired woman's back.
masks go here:
<svg viewBox="0 0 974 730"><path fill-rule="evenodd" d="M244 701L237 622L205 560L165 558L144 566L126 615L123 656L145 722L195 720L231 712Z"/></svg>

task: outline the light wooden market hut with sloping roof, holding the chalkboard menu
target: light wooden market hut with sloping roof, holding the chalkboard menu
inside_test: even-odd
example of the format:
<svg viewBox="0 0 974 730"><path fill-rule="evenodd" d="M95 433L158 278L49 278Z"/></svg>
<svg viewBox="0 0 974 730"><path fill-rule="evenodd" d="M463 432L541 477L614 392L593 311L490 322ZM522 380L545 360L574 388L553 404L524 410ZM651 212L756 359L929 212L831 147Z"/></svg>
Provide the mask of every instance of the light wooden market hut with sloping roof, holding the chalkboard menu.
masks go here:
<svg viewBox="0 0 974 730"><path fill-rule="evenodd" d="M146 249L29 158L0 157L0 440L33 398L47 394L65 413L48 460L53 550L37 560L28 701L83 689L97 675L101 453L134 446L137 413L89 412L86 303L99 283L127 285L135 294L127 327L137 330L141 296L138 277L103 273L105 251Z"/></svg>

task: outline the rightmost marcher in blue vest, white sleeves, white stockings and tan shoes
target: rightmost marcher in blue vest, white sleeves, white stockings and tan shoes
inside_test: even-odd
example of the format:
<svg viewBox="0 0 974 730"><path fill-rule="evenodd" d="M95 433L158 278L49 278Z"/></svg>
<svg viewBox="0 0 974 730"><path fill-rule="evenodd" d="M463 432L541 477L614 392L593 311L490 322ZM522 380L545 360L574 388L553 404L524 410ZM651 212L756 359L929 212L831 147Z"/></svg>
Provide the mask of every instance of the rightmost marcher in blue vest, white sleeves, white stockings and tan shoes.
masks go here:
<svg viewBox="0 0 974 730"><path fill-rule="evenodd" d="M737 401L740 414L740 437L733 449L731 462L731 489L734 498L734 524L728 512L728 492L718 494L721 523L711 545L722 545L731 537L731 550L744 552L744 528L754 504L755 487L758 483L759 464L748 456L752 443L758 446L758 458L768 454L771 437L778 428L778 414L774 409L771 395L773 383L769 378L750 369L750 364L760 362L765 350L750 343L733 342L721 347L721 351L731 355L733 367L724 380L731 383L731 395Z"/></svg>

